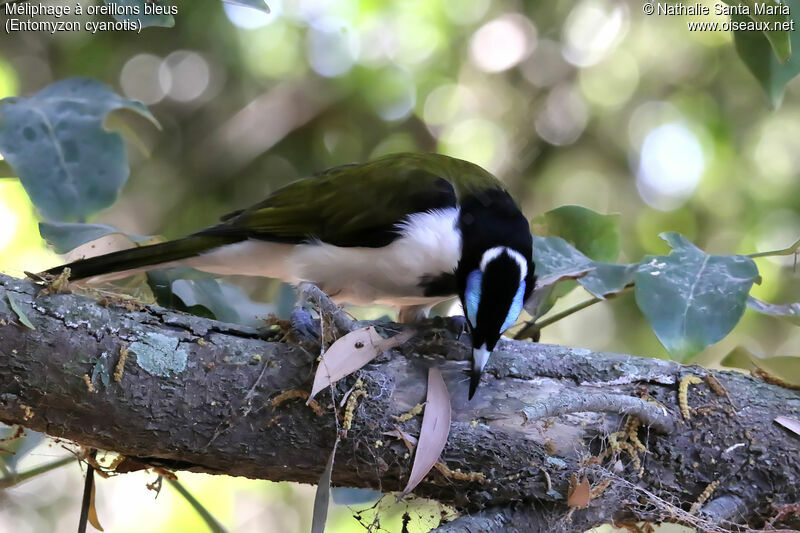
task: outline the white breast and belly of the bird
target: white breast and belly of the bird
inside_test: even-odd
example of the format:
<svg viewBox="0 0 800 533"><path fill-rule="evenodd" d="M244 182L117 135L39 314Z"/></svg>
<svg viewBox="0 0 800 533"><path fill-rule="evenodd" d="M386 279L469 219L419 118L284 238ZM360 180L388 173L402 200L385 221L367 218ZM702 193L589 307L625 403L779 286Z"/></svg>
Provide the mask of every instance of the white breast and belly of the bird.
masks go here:
<svg viewBox="0 0 800 533"><path fill-rule="evenodd" d="M457 220L457 208L414 213L398 224L400 236L380 248L249 240L191 262L218 274L310 281L335 299L353 304L429 304L444 298L426 297L420 282L452 273L461 257Z"/></svg>

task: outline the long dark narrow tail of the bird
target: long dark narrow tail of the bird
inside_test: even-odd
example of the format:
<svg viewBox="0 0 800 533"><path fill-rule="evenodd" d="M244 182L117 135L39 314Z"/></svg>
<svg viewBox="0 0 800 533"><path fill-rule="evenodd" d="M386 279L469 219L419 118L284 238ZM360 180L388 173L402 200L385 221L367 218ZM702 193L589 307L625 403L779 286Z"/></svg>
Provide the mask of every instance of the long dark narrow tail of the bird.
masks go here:
<svg viewBox="0 0 800 533"><path fill-rule="evenodd" d="M53 267L43 272L43 274L59 275L65 268L70 269L70 279L79 280L94 278L96 276L106 276L114 273L134 273L137 270L155 268L159 265L180 261L188 257L193 257L203 252L212 250L218 246L231 244L240 239L214 235L190 235L174 241L140 246L128 250L120 250L110 254L98 255L80 259L66 265ZM125 274L127 275L127 274ZM123 276L112 276L113 279Z"/></svg>

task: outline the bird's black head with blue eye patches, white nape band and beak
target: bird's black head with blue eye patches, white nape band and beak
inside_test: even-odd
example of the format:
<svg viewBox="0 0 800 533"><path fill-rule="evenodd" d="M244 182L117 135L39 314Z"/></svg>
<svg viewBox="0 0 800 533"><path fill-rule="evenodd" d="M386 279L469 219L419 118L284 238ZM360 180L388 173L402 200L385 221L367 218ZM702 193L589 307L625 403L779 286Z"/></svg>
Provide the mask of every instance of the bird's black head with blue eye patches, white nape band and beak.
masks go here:
<svg viewBox="0 0 800 533"><path fill-rule="evenodd" d="M535 277L528 221L507 192L487 191L465 200L460 229L456 278L472 336L472 399L489 355L519 318Z"/></svg>

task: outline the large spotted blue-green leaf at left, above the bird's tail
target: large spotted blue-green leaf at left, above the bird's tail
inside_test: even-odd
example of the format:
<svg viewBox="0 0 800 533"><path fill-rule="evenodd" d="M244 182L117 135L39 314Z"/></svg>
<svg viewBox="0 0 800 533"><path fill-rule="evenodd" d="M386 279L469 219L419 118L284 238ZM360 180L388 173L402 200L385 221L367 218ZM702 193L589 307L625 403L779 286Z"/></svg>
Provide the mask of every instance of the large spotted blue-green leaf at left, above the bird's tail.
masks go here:
<svg viewBox="0 0 800 533"><path fill-rule="evenodd" d="M106 131L103 120L117 109L156 123L142 104L87 78L0 100L0 153L45 218L84 219L116 200L128 158L122 137Z"/></svg>

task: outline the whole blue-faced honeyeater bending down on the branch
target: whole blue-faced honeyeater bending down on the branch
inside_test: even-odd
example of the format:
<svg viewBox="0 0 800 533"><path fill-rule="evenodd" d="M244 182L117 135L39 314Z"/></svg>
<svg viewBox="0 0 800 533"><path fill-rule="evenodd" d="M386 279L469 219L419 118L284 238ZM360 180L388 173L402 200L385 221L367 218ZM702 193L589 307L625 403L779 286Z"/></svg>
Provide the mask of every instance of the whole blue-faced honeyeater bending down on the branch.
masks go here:
<svg viewBox="0 0 800 533"><path fill-rule="evenodd" d="M317 285L334 301L385 304L401 321L458 296L472 341L469 399L535 282L528 220L480 166L390 154L276 189L187 237L57 266L105 282L168 266Z"/></svg>

